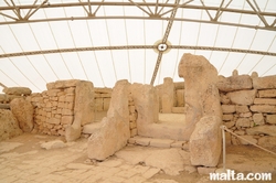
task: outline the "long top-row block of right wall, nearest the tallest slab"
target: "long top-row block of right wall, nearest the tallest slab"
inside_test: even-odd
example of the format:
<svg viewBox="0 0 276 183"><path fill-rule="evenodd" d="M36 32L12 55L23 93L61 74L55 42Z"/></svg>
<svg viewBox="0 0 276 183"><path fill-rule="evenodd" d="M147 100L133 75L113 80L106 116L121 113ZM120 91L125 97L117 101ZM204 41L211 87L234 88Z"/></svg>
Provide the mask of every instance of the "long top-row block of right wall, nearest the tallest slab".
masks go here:
<svg viewBox="0 0 276 183"><path fill-rule="evenodd" d="M221 92L234 92L243 89L252 89L252 78L250 75L220 77L216 84Z"/></svg>

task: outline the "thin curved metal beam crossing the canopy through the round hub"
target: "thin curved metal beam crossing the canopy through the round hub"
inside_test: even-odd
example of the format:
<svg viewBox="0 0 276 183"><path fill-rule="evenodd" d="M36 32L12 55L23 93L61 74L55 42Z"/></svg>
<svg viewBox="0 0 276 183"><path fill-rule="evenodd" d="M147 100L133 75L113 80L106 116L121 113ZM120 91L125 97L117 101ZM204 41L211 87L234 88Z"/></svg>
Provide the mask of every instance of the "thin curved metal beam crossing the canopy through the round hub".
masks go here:
<svg viewBox="0 0 276 183"><path fill-rule="evenodd" d="M109 51L109 50L142 50L142 49L156 50L157 46L156 45L126 45L126 46L95 46L95 47L74 47L74 49L43 50L43 51L0 54L0 58L15 57L15 56L41 55L41 54L54 54L54 53L70 53L70 52ZM168 45L168 49L235 52L235 53L246 53L246 54L276 56L276 53L274 53L274 52L263 52L263 51L253 51L253 50L243 50L243 49L192 46L192 45Z"/></svg>

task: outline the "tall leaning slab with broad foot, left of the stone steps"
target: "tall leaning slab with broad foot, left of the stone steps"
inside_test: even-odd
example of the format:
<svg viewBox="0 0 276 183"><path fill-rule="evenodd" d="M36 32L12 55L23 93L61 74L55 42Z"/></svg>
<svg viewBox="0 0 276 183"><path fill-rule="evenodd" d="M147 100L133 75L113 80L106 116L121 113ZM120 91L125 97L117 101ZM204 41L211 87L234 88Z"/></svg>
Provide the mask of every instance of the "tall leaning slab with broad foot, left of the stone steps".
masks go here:
<svg viewBox="0 0 276 183"><path fill-rule="evenodd" d="M116 83L110 107L100 123L100 129L88 139L87 153L89 159L105 160L127 144L130 138L128 94L129 83Z"/></svg>

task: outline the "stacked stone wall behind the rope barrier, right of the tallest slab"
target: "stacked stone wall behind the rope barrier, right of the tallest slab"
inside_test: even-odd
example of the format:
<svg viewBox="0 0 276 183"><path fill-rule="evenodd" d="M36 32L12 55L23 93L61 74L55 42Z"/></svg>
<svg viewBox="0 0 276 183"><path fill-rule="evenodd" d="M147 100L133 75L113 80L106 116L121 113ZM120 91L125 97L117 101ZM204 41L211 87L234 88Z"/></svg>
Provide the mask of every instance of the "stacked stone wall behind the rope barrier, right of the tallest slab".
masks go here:
<svg viewBox="0 0 276 183"><path fill-rule="evenodd" d="M262 147L276 147L276 76L237 75L217 83L223 123L236 134ZM227 133L229 143L248 144Z"/></svg>

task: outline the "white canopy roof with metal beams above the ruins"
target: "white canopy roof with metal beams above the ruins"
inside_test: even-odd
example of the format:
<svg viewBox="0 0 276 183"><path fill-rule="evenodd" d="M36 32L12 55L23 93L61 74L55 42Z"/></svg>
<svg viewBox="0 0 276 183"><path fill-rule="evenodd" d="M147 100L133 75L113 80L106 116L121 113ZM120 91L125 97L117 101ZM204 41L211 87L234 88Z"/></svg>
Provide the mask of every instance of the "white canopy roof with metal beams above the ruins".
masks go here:
<svg viewBox="0 0 276 183"><path fill-rule="evenodd" d="M45 90L57 79L96 87L174 82L183 53L220 75L276 74L275 0L6 0L0 83Z"/></svg>

